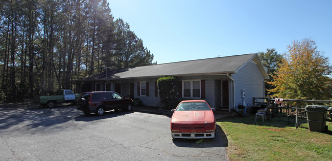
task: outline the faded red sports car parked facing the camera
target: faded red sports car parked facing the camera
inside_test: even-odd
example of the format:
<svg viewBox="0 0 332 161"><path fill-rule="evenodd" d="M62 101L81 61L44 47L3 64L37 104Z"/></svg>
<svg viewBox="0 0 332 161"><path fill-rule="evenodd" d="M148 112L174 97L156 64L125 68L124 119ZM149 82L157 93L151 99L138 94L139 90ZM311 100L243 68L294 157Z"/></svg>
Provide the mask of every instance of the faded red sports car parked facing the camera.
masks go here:
<svg viewBox="0 0 332 161"><path fill-rule="evenodd" d="M214 138L216 119L212 108L204 100L182 101L171 119L172 138Z"/></svg>

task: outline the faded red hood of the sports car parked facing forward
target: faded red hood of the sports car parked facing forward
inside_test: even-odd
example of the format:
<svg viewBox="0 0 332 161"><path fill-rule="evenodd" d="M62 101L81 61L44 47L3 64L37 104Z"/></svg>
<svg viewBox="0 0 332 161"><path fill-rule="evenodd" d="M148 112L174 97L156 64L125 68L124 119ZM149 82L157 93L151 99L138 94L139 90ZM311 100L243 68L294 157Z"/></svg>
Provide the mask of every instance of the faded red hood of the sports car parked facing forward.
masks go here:
<svg viewBox="0 0 332 161"><path fill-rule="evenodd" d="M212 111L175 111L172 123L205 123L214 122L215 116Z"/></svg>

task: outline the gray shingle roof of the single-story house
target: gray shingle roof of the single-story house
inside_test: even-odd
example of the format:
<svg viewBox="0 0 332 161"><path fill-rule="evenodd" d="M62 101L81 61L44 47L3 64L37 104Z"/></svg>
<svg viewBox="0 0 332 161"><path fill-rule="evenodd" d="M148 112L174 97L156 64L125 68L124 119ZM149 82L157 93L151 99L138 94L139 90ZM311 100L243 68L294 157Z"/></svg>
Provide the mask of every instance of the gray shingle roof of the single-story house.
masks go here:
<svg viewBox="0 0 332 161"><path fill-rule="evenodd" d="M129 79L138 77L184 76L199 74L234 73L257 54L244 54L226 57L207 58L199 60L163 63L153 66L143 66L129 69L108 70L107 79ZM105 72L77 81L105 80Z"/></svg>

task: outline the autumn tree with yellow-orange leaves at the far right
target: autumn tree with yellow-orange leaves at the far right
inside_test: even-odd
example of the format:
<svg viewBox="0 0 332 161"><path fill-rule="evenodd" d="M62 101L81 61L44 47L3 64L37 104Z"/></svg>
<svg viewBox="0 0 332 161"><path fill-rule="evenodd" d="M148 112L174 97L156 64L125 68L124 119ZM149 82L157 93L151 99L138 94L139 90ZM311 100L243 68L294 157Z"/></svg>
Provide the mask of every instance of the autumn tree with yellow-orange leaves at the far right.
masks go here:
<svg viewBox="0 0 332 161"><path fill-rule="evenodd" d="M269 91L286 99L328 100L332 93L331 66L316 42L303 39L288 46Z"/></svg>

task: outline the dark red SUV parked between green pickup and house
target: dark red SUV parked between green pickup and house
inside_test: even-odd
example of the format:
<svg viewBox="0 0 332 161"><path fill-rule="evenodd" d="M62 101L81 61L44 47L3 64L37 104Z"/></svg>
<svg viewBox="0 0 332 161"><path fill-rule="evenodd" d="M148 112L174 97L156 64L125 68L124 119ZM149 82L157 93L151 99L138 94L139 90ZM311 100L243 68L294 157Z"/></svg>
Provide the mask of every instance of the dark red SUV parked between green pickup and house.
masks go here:
<svg viewBox="0 0 332 161"><path fill-rule="evenodd" d="M105 111L122 109L130 111L133 100L124 98L113 91L91 91L83 92L78 98L77 109L85 114L95 113L101 116Z"/></svg>

